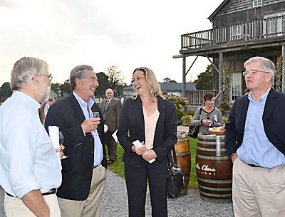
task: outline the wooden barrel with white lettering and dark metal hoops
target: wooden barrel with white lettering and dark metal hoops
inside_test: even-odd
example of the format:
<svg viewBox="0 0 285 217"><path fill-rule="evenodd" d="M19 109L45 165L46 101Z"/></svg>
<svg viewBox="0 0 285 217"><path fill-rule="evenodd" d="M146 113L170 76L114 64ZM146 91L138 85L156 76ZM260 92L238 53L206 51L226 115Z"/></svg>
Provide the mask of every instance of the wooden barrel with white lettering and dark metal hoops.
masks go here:
<svg viewBox="0 0 285 217"><path fill-rule="evenodd" d="M232 160L227 156L224 135L198 135L196 174L199 193L205 201L232 201Z"/></svg>

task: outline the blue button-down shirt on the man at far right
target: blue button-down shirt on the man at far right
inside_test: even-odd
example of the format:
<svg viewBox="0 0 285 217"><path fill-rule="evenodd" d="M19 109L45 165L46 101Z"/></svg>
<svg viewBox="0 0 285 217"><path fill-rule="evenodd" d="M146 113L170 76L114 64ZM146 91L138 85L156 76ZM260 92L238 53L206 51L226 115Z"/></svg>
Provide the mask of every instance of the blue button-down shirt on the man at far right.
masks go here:
<svg viewBox="0 0 285 217"><path fill-rule="evenodd" d="M244 127L244 139L241 147L237 149L237 156L247 164L273 168L285 164L285 157L269 142L264 132L262 115L269 90L258 101L254 101L251 92L249 92L249 108Z"/></svg>

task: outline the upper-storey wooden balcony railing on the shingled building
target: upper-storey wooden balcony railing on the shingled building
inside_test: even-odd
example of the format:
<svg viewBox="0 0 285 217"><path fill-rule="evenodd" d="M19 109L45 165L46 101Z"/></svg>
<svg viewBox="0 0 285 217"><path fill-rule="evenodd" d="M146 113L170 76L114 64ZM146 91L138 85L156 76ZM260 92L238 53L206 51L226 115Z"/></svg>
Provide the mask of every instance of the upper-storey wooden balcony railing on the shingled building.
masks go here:
<svg viewBox="0 0 285 217"><path fill-rule="evenodd" d="M207 48L227 43L285 36L285 15L213 28L181 36L181 49Z"/></svg>

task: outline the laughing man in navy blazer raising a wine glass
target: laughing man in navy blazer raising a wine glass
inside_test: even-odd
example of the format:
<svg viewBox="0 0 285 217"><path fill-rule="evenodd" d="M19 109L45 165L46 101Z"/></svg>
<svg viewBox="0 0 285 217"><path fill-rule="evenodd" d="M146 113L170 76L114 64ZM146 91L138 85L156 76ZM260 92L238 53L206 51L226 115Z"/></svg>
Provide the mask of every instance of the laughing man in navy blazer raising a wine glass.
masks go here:
<svg viewBox="0 0 285 217"><path fill-rule="evenodd" d="M100 216L105 183L105 138L103 117L93 118L100 107L91 99L98 88L93 68L79 65L71 70L72 94L48 110L45 127L56 125L64 136L63 181L58 189L62 217Z"/></svg>

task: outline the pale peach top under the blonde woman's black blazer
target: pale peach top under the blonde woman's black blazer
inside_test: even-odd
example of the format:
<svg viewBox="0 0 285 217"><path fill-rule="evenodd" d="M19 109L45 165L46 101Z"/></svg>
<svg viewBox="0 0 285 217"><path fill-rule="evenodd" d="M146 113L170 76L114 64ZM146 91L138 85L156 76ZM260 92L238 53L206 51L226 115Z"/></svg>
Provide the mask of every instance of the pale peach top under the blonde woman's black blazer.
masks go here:
<svg viewBox="0 0 285 217"><path fill-rule="evenodd" d="M152 115L147 115L147 111L142 106L143 118L145 120L145 146L147 149L153 148L153 139L155 138L155 127L160 117L160 112L156 109Z"/></svg>

